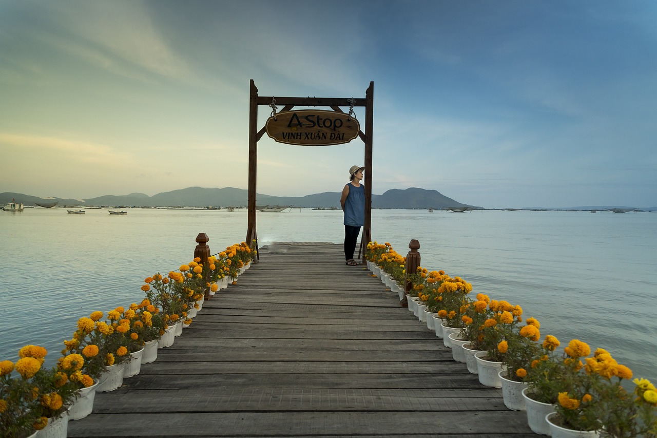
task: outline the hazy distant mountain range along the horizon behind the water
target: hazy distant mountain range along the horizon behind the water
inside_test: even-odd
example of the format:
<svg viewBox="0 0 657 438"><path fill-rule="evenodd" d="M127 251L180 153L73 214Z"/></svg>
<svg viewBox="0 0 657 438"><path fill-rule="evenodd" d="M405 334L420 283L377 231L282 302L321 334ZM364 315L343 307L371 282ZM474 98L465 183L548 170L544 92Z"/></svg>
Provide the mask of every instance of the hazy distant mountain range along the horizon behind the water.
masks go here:
<svg viewBox="0 0 657 438"><path fill-rule="evenodd" d="M187 189L167 191L148 196L144 193L129 195L104 195L92 199L62 199L51 197L43 199L23 193L0 193L0 207L12 199L24 205L58 202L58 207L243 207L248 205L248 190L235 187L206 189L188 187ZM304 208L340 208L340 192L327 191L302 197L282 197L257 195L258 205L292 205ZM436 190L391 189L383 195L372 195L373 208L449 208L474 207L459 203ZM480 208L480 207L475 207Z"/></svg>

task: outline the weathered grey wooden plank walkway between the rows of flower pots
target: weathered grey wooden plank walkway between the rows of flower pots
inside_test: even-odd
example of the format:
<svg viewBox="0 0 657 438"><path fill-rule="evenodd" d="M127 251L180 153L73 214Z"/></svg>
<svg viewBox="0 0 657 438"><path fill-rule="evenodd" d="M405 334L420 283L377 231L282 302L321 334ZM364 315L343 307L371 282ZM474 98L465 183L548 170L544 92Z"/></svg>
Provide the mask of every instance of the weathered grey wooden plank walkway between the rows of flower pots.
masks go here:
<svg viewBox="0 0 657 438"><path fill-rule="evenodd" d="M534 437L342 245L277 243L69 437Z"/></svg>

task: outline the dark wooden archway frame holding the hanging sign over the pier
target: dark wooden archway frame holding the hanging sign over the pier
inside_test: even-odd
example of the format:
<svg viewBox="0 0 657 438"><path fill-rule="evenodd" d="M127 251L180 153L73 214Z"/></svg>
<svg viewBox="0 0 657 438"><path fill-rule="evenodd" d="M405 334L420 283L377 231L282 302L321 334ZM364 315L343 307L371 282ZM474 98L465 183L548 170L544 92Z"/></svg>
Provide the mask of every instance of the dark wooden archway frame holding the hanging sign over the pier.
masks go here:
<svg viewBox="0 0 657 438"><path fill-rule="evenodd" d="M344 113L340 107L365 107L365 133L359 131L358 136L365 143L365 223L363 224L362 243L372 241L372 132L374 108L374 82L370 82L365 91L365 99L348 99L347 97L276 97L277 105L284 105L283 111L289 111L295 106L302 107L329 107L334 112ZM251 80L249 99L249 135L248 135L248 225L246 228L246 242L251 243L258 239L256 232L256 179L258 175L258 140L265 134L266 127L258 131L258 107L269 106L271 97L259 97L258 88ZM346 163L348 164L348 163Z"/></svg>

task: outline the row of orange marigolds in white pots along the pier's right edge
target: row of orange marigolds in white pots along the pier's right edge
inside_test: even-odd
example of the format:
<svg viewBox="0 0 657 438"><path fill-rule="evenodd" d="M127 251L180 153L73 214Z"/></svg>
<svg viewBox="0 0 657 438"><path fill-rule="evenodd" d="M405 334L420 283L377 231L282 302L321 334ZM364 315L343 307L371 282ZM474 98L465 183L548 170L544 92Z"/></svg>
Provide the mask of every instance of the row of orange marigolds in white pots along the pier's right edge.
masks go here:
<svg viewBox="0 0 657 438"><path fill-rule="evenodd" d="M470 283L442 270L420 267L407 274L405 258L390 243L369 243L365 258L451 347L455 360L466 362L482 384L502 387L509 408L527 410L534 432L657 437L657 389L647 379L632 379L632 371L608 351L591 354L578 339L560 348L553 335L541 341L538 320L524 319L520 306L482 293L472 298ZM411 290L404 296L406 281Z"/></svg>

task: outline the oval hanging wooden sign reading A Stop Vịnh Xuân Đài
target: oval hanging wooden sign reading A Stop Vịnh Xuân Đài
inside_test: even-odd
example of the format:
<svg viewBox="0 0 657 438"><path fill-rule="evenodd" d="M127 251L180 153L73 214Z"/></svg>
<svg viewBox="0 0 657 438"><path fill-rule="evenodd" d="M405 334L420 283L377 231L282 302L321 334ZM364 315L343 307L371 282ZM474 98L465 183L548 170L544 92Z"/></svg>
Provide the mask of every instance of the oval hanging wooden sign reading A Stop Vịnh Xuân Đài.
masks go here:
<svg viewBox="0 0 657 438"><path fill-rule="evenodd" d="M279 143L302 146L328 146L349 143L361 126L353 116L337 111L282 111L265 125L267 135Z"/></svg>

